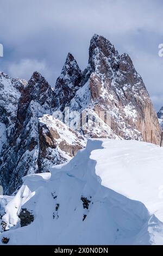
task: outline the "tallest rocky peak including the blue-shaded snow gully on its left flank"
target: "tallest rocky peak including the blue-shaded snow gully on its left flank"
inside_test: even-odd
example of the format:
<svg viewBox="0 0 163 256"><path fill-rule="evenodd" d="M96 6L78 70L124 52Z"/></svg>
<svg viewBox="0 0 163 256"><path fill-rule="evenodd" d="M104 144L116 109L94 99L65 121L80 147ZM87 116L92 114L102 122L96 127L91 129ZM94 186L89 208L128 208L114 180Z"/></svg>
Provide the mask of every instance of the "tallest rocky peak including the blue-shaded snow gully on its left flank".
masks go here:
<svg viewBox="0 0 163 256"><path fill-rule="evenodd" d="M109 40L94 35L83 81L87 82L77 90L69 104L73 111L91 113L97 119L101 118L101 113L107 112L111 129L106 131L106 137L117 135L124 139L145 140L146 132L147 141L151 142L152 130L152 142L159 143L161 131L158 118L145 84L128 54L120 56ZM85 130L84 134L101 137L104 130L107 129L101 126L98 132L93 128L91 132Z"/></svg>

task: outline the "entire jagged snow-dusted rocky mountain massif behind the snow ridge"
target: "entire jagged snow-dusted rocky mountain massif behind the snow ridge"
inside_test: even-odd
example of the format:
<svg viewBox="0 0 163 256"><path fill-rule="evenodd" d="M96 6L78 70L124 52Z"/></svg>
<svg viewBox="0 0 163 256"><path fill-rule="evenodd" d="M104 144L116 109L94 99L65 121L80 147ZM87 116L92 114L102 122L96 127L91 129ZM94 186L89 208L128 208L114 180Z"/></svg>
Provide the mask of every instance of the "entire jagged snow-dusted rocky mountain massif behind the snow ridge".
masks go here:
<svg viewBox="0 0 163 256"><path fill-rule="evenodd" d="M160 126L128 54L93 35L84 71L68 53L54 89L34 72L28 83L0 73L0 184L11 194L22 176L48 172L87 138L160 142ZM69 127L68 127L69 126Z"/></svg>

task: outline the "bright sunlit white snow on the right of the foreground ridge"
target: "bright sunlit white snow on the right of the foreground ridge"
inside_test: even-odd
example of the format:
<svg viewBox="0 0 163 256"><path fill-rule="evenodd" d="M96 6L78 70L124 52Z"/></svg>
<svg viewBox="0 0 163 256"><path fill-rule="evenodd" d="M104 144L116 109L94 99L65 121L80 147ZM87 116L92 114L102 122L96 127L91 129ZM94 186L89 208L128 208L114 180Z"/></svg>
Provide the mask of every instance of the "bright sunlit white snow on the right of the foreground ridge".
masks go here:
<svg viewBox="0 0 163 256"><path fill-rule="evenodd" d="M96 150L91 155L97 161L96 174L102 185L141 201L163 222L163 148L145 142L111 140L103 147L105 154Z"/></svg>

